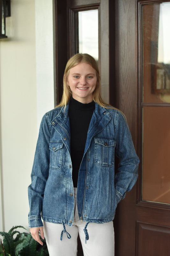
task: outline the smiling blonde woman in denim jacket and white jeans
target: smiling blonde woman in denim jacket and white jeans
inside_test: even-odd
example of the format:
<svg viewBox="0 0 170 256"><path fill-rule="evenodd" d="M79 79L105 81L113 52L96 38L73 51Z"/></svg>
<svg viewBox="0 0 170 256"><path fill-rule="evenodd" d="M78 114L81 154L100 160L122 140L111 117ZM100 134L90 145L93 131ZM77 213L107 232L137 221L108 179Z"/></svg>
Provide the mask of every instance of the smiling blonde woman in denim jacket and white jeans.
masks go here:
<svg viewBox="0 0 170 256"><path fill-rule="evenodd" d="M137 180L138 164L125 116L101 99L96 61L74 55L62 100L40 125L28 187L33 238L42 244L39 231L42 238L45 231L50 256L77 255L79 233L84 256L113 256L112 220Z"/></svg>

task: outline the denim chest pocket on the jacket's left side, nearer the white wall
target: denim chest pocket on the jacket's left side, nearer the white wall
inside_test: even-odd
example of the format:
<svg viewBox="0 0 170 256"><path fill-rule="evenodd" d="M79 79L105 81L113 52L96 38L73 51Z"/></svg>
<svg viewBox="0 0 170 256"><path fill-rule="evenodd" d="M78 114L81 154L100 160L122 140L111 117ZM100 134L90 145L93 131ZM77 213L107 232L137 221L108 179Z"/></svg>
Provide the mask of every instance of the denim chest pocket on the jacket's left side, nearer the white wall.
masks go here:
<svg viewBox="0 0 170 256"><path fill-rule="evenodd" d="M62 140L50 141L50 169L59 170L61 168L63 161L63 144Z"/></svg>

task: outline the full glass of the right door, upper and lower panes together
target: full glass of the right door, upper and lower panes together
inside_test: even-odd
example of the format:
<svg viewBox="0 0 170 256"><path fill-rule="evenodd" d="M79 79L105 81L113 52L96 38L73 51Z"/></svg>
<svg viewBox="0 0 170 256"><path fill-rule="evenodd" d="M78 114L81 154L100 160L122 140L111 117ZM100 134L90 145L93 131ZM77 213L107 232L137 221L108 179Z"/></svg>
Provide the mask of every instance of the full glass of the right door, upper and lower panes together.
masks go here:
<svg viewBox="0 0 170 256"><path fill-rule="evenodd" d="M170 204L170 2L144 4L142 200Z"/></svg>

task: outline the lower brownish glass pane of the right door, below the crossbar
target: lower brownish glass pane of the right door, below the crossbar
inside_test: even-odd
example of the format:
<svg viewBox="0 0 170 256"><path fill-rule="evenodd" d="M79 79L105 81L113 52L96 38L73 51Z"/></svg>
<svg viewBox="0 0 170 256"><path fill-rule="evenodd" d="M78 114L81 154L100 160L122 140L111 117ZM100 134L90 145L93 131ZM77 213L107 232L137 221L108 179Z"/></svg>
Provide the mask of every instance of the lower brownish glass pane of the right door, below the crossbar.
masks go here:
<svg viewBox="0 0 170 256"><path fill-rule="evenodd" d="M142 199L170 204L170 107L143 108Z"/></svg>

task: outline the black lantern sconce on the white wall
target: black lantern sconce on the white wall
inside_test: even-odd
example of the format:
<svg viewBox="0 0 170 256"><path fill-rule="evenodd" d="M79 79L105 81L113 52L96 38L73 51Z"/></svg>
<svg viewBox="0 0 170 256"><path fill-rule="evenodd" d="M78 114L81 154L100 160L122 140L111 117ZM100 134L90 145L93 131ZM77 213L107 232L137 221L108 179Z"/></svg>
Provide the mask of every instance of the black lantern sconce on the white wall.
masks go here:
<svg viewBox="0 0 170 256"><path fill-rule="evenodd" d="M5 18L11 16L11 0L0 0L0 38L7 38L5 34Z"/></svg>

